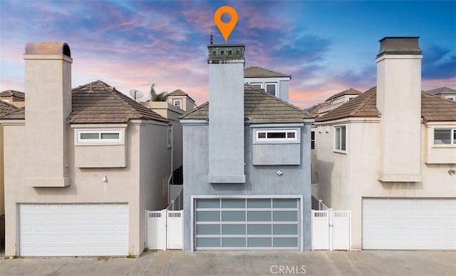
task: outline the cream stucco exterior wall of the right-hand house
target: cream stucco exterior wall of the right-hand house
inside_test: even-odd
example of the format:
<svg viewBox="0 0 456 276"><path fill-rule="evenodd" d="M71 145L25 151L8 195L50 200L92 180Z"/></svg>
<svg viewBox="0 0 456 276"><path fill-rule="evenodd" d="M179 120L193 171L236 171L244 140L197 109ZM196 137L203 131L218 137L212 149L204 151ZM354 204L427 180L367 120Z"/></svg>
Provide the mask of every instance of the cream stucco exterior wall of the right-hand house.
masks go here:
<svg viewBox="0 0 456 276"><path fill-rule="evenodd" d="M381 182L378 180L383 149L380 148L380 123L378 121L351 121L347 126L347 153L333 152L333 126L321 126L317 131L318 198L330 208L351 210L353 249L362 247L363 198L456 198L453 185L456 175L448 170L455 163L427 164L426 148L430 147L425 126L421 127L419 162L423 181ZM433 143L433 140L430 141ZM449 153L449 152L447 152Z"/></svg>

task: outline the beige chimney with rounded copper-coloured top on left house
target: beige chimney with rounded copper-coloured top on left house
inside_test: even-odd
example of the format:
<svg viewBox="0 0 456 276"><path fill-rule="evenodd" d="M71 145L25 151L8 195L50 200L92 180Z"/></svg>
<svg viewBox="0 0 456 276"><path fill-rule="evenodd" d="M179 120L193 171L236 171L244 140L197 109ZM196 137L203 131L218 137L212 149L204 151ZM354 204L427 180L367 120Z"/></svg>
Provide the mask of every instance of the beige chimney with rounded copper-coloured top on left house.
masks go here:
<svg viewBox="0 0 456 276"><path fill-rule="evenodd" d="M25 60L26 185L64 187L68 173L71 51L63 42L28 43Z"/></svg>

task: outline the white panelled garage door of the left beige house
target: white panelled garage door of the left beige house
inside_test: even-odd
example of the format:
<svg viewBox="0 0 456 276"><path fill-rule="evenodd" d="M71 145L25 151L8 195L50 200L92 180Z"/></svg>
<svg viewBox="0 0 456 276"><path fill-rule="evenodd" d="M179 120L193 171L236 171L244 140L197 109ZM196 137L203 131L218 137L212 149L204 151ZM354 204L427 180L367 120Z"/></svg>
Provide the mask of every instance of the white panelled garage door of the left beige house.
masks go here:
<svg viewBox="0 0 456 276"><path fill-rule="evenodd" d="M21 256L128 255L127 204L20 204Z"/></svg>

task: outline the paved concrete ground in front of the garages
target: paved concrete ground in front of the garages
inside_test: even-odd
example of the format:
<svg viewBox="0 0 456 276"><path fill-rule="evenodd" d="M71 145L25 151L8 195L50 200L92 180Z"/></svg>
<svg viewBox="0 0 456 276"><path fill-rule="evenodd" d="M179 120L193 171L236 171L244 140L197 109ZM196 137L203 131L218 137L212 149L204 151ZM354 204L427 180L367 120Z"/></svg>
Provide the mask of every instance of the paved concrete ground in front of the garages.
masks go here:
<svg viewBox="0 0 456 276"><path fill-rule="evenodd" d="M0 275L456 275L456 251L158 251L0 260Z"/></svg>

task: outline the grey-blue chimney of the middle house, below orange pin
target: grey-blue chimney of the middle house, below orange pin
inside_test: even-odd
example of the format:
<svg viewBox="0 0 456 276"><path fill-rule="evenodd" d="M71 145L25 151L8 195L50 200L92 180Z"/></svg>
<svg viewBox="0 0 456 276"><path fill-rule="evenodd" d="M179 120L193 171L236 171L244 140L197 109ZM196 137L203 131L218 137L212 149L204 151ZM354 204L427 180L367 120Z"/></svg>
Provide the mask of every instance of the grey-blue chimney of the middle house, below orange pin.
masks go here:
<svg viewBox="0 0 456 276"><path fill-rule="evenodd" d="M210 44L209 183L245 183L244 45Z"/></svg>

